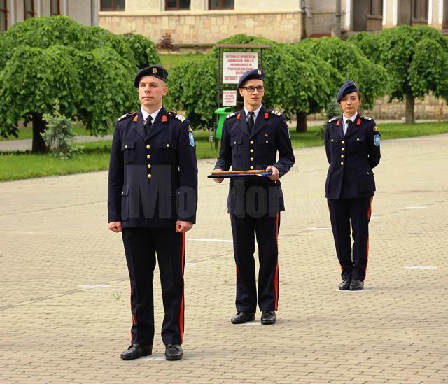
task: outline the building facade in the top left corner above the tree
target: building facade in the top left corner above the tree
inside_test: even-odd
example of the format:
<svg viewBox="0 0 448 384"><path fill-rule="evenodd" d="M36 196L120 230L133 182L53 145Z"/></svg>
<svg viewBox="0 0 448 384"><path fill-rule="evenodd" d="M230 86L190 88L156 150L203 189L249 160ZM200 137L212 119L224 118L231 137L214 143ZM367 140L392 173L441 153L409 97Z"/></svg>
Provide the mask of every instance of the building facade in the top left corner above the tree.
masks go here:
<svg viewBox="0 0 448 384"><path fill-rule="evenodd" d="M98 0L0 0L0 31L29 17L65 15L85 25L98 25Z"/></svg>

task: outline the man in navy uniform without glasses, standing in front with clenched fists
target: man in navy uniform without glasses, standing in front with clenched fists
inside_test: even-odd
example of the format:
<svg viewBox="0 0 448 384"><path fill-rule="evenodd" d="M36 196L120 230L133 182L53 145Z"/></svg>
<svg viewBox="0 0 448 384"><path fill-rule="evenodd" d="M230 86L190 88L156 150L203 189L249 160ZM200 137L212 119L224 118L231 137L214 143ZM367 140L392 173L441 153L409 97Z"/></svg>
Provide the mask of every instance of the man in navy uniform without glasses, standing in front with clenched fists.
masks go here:
<svg viewBox="0 0 448 384"><path fill-rule="evenodd" d="M109 229L123 231L131 280L131 346L123 360L151 355L154 339L153 272L158 257L167 360L183 350L183 268L186 232L197 206L197 161L190 123L167 112L168 72L141 69L134 80L141 108L115 126L109 168Z"/></svg>

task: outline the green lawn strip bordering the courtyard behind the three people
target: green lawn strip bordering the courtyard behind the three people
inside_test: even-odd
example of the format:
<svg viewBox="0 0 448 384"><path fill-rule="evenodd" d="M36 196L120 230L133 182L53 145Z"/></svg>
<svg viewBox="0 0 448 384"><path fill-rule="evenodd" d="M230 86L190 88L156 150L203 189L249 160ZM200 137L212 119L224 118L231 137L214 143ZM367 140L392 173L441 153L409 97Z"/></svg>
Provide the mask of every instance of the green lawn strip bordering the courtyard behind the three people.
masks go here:
<svg viewBox="0 0 448 384"><path fill-rule="evenodd" d="M290 129L293 148L323 145L323 139L319 135L320 130L320 126L314 126L309 127L306 134L297 134L293 128ZM389 123L380 125L379 131L382 139L442 134L448 132L448 122L425 122L416 125ZM198 159L214 159L218 156L218 150L215 150L214 143L209 142L209 132L196 131L195 141ZM109 168L111 141L92 141L79 145L83 146L84 153L75 155L70 160L30 152L0 152L0 180L59 176L104 171Z"/></svg>

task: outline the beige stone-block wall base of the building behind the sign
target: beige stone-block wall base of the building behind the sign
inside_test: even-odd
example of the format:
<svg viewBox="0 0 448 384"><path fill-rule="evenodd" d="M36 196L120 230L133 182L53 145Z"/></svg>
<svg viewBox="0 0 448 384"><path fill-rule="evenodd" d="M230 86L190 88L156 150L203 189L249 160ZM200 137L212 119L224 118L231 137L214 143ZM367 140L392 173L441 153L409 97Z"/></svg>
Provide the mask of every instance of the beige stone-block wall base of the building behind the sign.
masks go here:
<svg viewBox="0 0 448 384"><path fill-rule="evenodd" d="M301 13L297 12L223 12L207 11L121 13L100 12L99 26L116 34L137 32L156 43L163 34L172 35L174 43L209 43L228 38L236 33L262 36L274 41L294 43L300 40Z"/></svg>

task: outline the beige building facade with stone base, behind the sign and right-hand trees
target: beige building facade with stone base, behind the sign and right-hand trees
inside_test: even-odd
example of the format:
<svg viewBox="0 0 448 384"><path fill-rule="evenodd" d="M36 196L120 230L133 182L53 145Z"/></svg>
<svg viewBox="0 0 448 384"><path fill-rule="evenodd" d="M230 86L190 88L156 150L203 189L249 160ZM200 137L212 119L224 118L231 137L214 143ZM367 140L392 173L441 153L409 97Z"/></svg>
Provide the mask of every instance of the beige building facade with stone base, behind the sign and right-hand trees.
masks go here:
<svg viewBox="0 0 448 384"><path fill-rule="evenodd" d="M337 1L340 17L336 17ZM448 25L448 0L99 0L99 25L179 45L212 45L234 34L293 43L304 36L342 36L400 24Z"/></svg>

